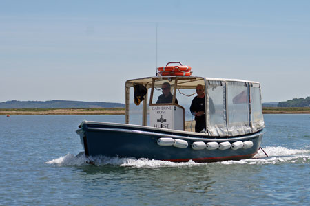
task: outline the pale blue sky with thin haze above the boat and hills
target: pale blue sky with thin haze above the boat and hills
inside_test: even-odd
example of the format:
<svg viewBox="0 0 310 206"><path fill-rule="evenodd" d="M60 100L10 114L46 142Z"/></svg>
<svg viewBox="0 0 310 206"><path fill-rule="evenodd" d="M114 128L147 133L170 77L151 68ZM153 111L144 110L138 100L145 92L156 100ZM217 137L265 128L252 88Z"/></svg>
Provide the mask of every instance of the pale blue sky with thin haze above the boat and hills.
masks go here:
<svg viewBox="0 0 310 206"><path fill-rule="evenodd" d="M310 95L310 1L0 0L0 102L124 102L125 81L182 62Z"/></svg>

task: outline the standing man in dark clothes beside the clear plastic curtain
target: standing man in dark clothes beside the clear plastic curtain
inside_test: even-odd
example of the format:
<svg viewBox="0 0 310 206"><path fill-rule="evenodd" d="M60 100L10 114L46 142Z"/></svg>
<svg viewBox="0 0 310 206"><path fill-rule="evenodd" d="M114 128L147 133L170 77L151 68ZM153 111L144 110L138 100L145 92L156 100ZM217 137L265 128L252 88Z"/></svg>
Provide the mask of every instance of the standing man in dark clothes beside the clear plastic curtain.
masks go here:
<svg viewBox="0 0 310 206"><path fill-rule="evenodd" d="M195 132L200 133L206 128L205 124L205 90L203 85L198 84L196 87L197 96L192 100L190 111L195 116Z"/></svg>

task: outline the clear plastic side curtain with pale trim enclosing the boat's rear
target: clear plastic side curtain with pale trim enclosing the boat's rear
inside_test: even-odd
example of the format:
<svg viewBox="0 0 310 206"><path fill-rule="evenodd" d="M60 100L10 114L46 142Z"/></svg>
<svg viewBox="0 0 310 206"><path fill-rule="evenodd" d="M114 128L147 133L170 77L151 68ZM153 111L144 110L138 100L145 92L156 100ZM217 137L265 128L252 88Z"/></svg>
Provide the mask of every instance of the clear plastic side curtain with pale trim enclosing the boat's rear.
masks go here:
<svg viewBox="0 0 310 206"><path fill-rule="evenodd" d="M245 135L262 128L264 123L261 114L260 89L256 87L257 85L221 80L207 80L206 82L209 135L220 137ZM254 129L250 124L250 105Z"/></svg>

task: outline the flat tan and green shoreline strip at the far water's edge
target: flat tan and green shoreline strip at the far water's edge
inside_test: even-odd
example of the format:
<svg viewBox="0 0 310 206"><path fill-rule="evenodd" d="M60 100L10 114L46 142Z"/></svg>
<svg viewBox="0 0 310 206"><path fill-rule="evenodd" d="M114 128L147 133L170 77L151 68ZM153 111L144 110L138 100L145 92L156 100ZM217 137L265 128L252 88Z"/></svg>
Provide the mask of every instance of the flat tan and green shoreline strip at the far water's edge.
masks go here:
<svg viewBox="0 0 310 206"><path fill-rule="evenodd" d="M309 107L267 107L263 114L310 114ZM0 115L125 115L125 108L0 108Z"/></svg>

